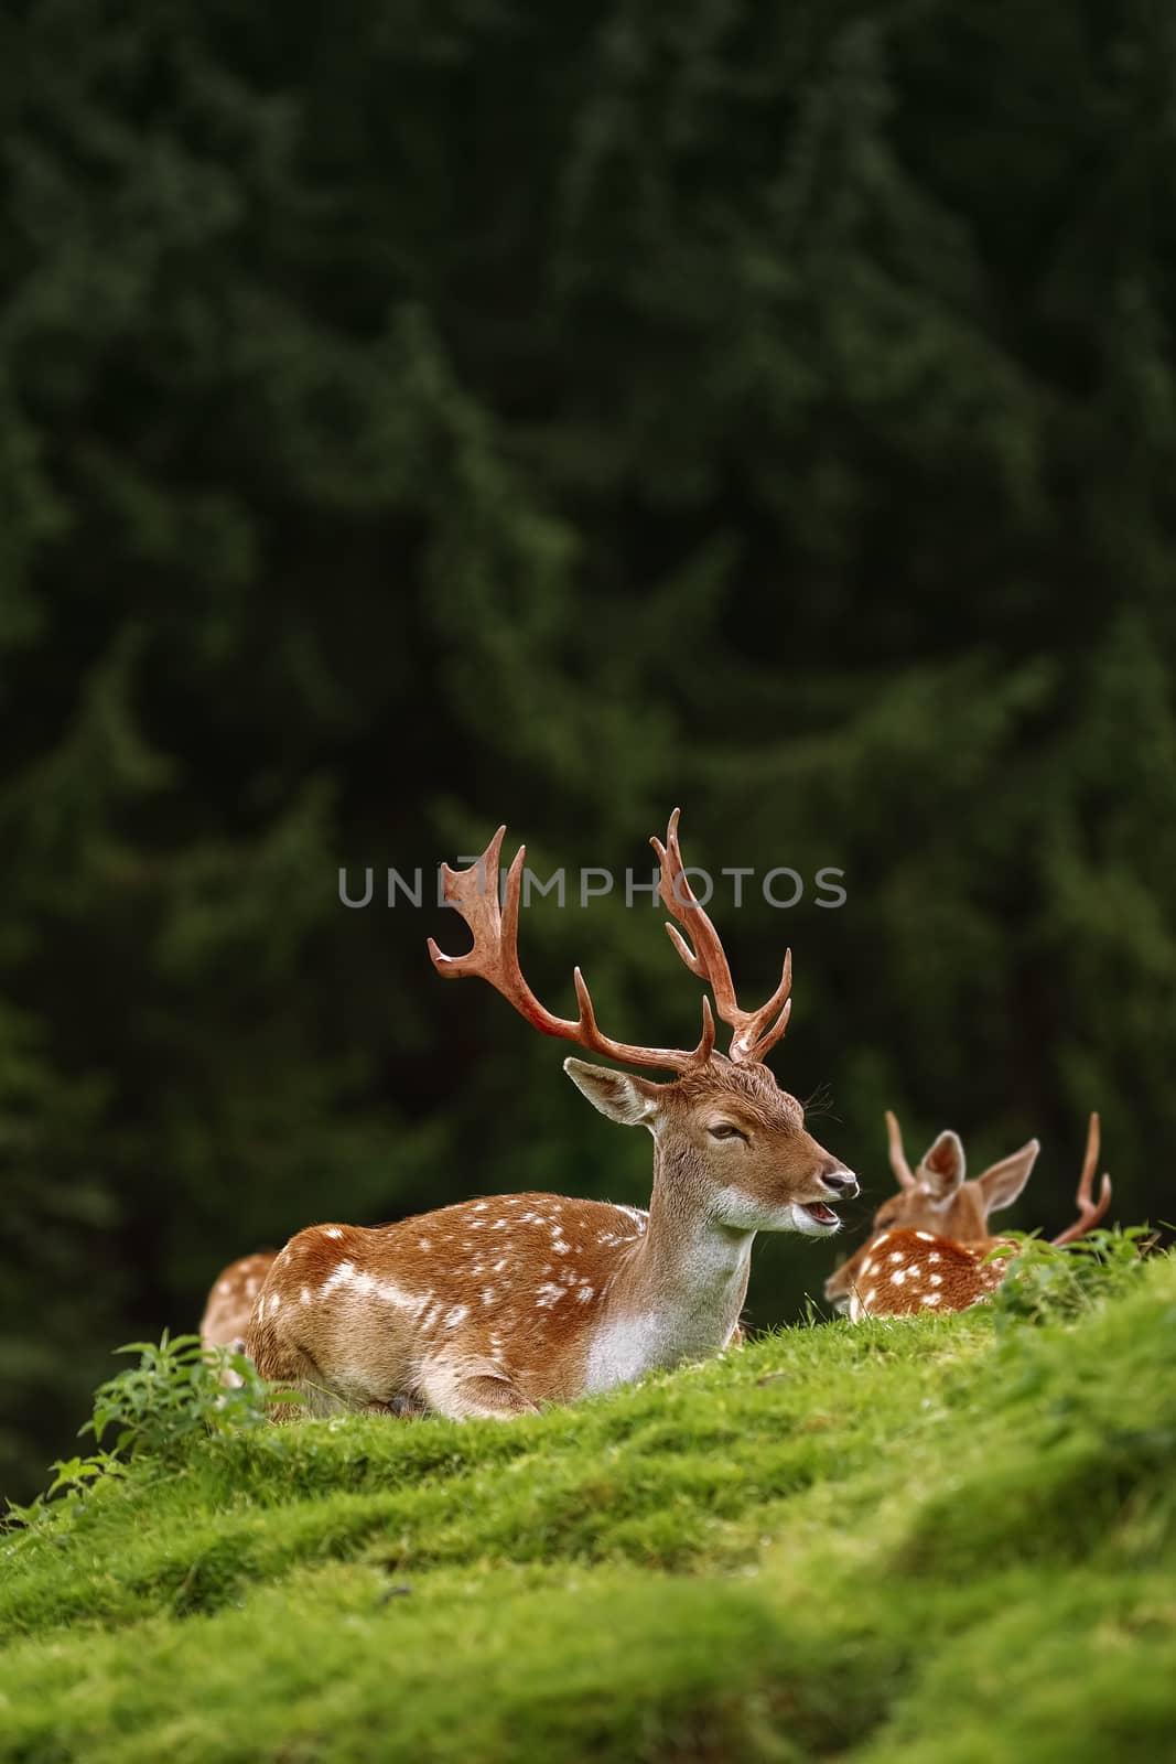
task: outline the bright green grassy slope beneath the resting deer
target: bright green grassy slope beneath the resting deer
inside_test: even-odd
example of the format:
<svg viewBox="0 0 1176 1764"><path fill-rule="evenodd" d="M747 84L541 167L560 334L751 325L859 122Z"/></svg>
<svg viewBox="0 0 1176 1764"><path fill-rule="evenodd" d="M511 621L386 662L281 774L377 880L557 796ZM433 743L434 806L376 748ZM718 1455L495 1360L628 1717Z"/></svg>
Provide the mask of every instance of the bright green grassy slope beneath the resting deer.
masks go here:
<svg viewBox="0 0 1176 1764"><path fill-rule="evenodd" d="M510 1425L138 1459L0 1535L0 1759L1171 1757L1176 1258L1063 1267Z"/></svg>

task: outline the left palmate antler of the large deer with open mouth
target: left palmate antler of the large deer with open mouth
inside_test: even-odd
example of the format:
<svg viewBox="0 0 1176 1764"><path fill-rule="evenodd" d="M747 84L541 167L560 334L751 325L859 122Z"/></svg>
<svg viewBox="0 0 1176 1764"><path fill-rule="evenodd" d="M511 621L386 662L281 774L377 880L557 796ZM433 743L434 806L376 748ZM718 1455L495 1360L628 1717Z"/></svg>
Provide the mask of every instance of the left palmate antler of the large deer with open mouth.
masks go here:
<svg viewBox="0 0 1176 1764"><path fill-rule="evenodd" d="M481 857L469 870L451 870L441 866L444 878L444 898L451 901L474 935L473 949L464 956L446 956L428 938L432 965L443 979L465 979L474 974L488 981L495 991L545 1035L557 1035L561 1041L575 1041L591 1053L603 1053L622 1065L656 1065L663 1071L686 1071L691 1065L705 1064L714 1048L714 1018L707 998L702 1002L702 1035L693 1051L682 1048L638 1048L624 1041L605 1035L596 1021L592 997L587 983L575 970L577 1000L580 1014L573 1021L555 1016L540 1004L531 986L524 979L518 965L518 901L522 893L522 866L527 847L520 845L506 873L506 893L499 907L499 852L506 827L499 827Z"/></svg>

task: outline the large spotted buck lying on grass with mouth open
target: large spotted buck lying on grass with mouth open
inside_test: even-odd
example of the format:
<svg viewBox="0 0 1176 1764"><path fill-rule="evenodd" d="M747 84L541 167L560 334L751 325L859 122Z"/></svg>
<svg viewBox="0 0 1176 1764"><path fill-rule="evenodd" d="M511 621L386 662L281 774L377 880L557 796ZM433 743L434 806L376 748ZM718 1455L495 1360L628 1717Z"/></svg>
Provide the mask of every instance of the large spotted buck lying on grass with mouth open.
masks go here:
<svg viewBox="0 0 1176 1764"><path fill-rule="evenodd" d="M517 951L525 847L499 905L504 827L473 868L444 866L446 898L473 931L473 949L446 956L428 942L443 977L480 975L543 1034L674 1073L652 1083L564 1060L596 1110L652 1134L649 1212L504 1194L376 1230L301 1231L257 1297L249 1351L264 1378L300 1390L310 1411L418 1399L457 1418L508 1416L718 1353L739 1325L756 1231L837 1230L827 1203L852 1200L857 1178L809 1138L800 1104L763 1065L788 1021L792 960L785 956L763 1005L739 1007L718 931L682 866L677 818L675 810L665 845L651 843L661 900L689 942L666 930L732 1028L726 1055L714 1048L705 995L689 1051L612 1041L578 968L575 1020L540 1004Z"/></svg>

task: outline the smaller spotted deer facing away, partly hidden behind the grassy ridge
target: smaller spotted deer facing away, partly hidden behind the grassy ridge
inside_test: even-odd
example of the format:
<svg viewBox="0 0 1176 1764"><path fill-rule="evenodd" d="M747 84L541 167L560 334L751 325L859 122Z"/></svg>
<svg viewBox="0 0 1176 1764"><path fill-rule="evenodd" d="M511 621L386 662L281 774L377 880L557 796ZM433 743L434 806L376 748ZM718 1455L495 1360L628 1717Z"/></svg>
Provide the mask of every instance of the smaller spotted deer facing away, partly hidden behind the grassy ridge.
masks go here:
<svg viewBox="0 0 1176 1764"><path fill-rule="evenodd" d="M966 1311L989 1298L1009 1272L1009 1258L989 1258L996 1249L1014 1249L1014 1240L989 1237L987 1215L1016 1201L1033 1170L1038 1143L1030 1140L1012 1157L964 1182L964 1148L954 1132L942 1132L912 1171L890 1111L887 1131L899 1192L875 1214L866 1244L829 1277L825 1297L852 1323L864 1316ZM1093 1230L1111 1205L1111 1177L1105 1173L1098 1200L1091 1200L1097 1162L1098 1115L1091 1113L1076 1194L1079 1217L1053 1238L1054 1244L1072 1244Z"/></svg>

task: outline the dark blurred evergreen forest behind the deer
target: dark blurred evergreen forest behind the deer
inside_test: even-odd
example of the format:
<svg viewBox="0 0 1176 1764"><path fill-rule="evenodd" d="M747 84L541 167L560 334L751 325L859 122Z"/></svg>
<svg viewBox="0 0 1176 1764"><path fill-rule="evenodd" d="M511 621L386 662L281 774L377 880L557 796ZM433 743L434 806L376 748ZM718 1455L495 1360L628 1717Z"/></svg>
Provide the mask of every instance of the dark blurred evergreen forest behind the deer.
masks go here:
<svg viewBox="0 0 1176 1764"><path fill-rule="evenodd" d="M5 7L0 1487L227 1259L645 1136L339 901L499 820L714 900L774 1057L1012 1215L1176 1138L1176 12L896 0ZM696 1035L659 914L524 919ZM834 1245L762 1244L753 1323Z"/></svg>

